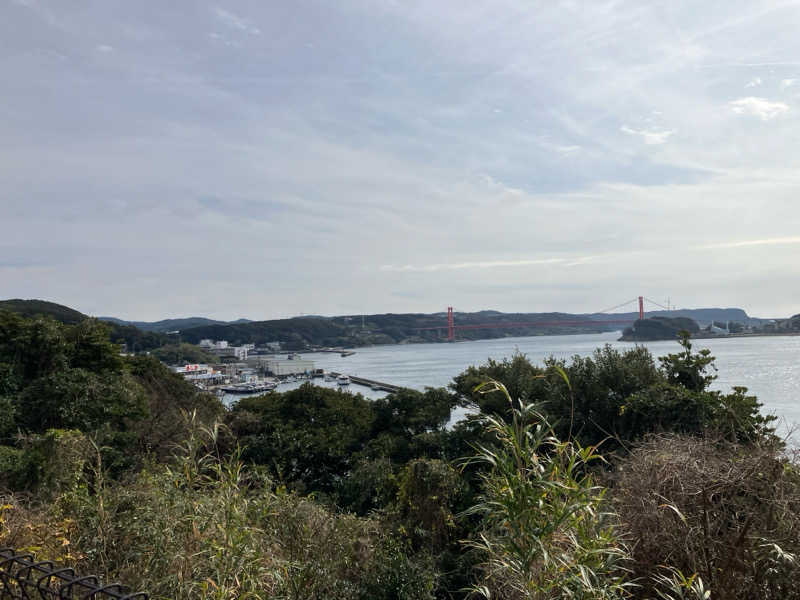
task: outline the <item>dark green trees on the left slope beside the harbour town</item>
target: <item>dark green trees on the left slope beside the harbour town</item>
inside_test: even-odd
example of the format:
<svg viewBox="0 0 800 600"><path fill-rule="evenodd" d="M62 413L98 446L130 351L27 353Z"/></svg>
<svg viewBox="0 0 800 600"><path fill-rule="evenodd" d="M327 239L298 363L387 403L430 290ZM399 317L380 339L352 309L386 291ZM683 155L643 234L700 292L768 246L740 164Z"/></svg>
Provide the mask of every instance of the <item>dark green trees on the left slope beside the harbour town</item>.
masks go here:
<svg viewBox="0 0 800 600"><path fill-rule="evenodd" d="M86 434L114 476L148 456L165 460L186 436L181 410L209 423L222 406L154 358L123 357L97 320L65 325L0 311L0 445L25 453L0 465L3 486L41 485L41 440L51 430Z"/></svg>

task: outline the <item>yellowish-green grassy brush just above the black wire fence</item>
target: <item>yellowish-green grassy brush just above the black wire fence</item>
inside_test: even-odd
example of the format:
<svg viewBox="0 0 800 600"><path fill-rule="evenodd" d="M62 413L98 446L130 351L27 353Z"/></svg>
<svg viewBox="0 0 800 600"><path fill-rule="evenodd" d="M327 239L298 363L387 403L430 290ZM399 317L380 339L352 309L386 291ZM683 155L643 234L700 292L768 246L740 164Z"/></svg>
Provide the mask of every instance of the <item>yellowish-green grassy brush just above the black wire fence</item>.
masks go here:
<svg viewBox="0 0 800 600"><path fill-rule="evenodd" d="M173 467L125 483L97 469L93 490L72 488L38 509L6 498L0 544L99 570L152 598L432 598L430 564L377 521L276 488L236 454L221 459L213 432L192 431Z"/></svg>

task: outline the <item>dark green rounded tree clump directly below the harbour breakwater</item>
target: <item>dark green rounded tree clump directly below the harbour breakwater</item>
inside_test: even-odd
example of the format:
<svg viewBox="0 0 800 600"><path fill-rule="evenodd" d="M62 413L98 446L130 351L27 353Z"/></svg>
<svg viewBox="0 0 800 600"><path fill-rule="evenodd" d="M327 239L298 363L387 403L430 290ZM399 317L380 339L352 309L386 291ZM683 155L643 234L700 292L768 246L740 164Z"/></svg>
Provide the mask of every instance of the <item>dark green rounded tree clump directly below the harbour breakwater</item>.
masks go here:
<svg viewBox="0 0 800 600"><path fill-rule="evenodd" d="M227 423L245 447L245 460L267 466L295 490L341 492L340 504L364 514L377 508L364 496L372 483L347 479L374 480L378 474L368 464L384 466L379 478L385 480L415 458L442 458L453 402L444 389L401 390L371 401L304 384L243 398Z"/></svg>

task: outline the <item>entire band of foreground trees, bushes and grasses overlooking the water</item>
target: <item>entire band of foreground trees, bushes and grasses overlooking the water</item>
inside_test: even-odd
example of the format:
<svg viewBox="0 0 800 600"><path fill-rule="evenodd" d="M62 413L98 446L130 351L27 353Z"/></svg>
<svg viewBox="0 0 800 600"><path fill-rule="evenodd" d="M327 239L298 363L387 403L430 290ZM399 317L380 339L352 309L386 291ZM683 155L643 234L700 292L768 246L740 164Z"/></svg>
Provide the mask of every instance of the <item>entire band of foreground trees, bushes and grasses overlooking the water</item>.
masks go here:
<svg viewBox="0 0 800 600"><path fill-rule="evenodd" d="M226 410L0 312L0 545L154 598L800 598L800 466L712 368L683 339Z"/></svg>

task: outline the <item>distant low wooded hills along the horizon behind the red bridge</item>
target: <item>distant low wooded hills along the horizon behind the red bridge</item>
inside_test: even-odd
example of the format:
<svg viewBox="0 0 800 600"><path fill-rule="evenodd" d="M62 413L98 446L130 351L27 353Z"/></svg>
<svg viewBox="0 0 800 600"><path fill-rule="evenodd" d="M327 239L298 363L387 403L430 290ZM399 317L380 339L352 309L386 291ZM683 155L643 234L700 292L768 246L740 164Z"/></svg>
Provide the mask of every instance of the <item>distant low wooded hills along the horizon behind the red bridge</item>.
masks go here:
<svg viewBox="0 0 800 600"><path fill-rule="evenodd" d="M26 316L44 314L64 323L78 323L86 315L69 307L44 300L4 300L0 309ZM735 321L759 325L769 319L750 317L740 308L699 308L648 312L648 317L686 317L705 326L712 321ZM512 336L599 333L623 329L633 324L638 313L503 313L482 310L456 313L456 337L476 340ZM375 314L339 317L294 317L269 321L218 321L204 317L164 319L162 321L125 321L100 317L112 327L112 339L124 341L131 350L148 350L176 341L197 343L203 338L224 339L232 344L278 341L289 350L309 347L355 347L372 344L445 341L447 315L438 313ZM614 321L609 322L609 321ZM166 335L178 332L178 336Z"/></svg>

